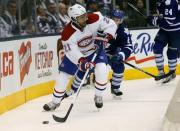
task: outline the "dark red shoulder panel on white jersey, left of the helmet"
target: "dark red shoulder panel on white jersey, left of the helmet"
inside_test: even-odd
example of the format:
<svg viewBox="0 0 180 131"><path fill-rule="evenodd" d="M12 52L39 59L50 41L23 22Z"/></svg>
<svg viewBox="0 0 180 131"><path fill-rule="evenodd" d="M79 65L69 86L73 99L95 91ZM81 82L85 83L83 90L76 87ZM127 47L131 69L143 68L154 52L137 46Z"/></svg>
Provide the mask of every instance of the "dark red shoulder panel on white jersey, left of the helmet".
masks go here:
<svg viewBox="0 0 180 131"><path fill-rule="evenodd" d="M69 24L67 24L67 26L64 27L64 30L62 31L61 34L61 39L63 41L68 40L72 34L75 32L76 30L72 27L71 22Z"/></svg>

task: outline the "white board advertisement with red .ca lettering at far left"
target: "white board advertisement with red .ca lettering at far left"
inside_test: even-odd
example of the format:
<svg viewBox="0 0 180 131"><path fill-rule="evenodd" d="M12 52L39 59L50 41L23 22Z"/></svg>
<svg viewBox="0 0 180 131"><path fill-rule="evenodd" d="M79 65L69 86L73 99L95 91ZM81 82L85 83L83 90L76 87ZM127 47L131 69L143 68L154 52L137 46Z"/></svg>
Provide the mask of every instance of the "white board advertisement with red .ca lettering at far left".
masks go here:
<svg viewBox="0 0 180 131"><path fill-rule="evenodd" d="M7 42L0 46L0 97L2 97L18 90L19 63L16 61L17 45Z"/></svg>

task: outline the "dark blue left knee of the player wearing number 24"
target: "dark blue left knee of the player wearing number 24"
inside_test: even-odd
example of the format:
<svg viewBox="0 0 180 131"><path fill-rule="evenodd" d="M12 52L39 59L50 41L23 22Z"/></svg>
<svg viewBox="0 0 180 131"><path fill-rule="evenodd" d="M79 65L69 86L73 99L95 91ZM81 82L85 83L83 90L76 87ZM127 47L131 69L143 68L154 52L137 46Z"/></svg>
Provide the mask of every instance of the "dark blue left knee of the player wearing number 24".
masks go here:
<svg viewBox="0 0 180 131"><path fill-rule="evenodd" d="M153 46L154 54L162 54L165 46L166 46L165 43L160 42L160 41L156 41L154 46Z"/></svg>

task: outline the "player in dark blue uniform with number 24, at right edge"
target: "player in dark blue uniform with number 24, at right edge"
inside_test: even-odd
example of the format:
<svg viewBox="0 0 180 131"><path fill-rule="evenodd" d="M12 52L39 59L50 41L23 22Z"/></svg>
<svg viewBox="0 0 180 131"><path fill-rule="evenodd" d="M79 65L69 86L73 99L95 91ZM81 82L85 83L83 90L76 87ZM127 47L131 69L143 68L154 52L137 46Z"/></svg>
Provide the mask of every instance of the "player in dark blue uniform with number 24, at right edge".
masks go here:
<svg viewBox="0 0 180 131"><path fill-rule="evenodd" d="M178 50L180 49L180 6L177 0L158 0L157 14L148 16L149 24L159 26L153 47L159 75L164 75L164 47L168 46L167 57L169 76L163 79L167 83L176 77Z"/></svg>

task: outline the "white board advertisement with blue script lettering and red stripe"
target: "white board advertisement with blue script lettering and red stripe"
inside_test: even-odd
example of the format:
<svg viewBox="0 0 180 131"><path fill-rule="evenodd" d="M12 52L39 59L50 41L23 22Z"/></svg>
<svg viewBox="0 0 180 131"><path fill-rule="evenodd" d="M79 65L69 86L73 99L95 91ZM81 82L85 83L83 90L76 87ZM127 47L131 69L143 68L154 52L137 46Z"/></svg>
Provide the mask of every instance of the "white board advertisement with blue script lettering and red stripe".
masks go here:
<svg viewBox="0 0 180 131"><path fill-rule="evenodd" d="M143 67L155 66L153 45L158 29L131 30L133 53L128 59Z"/></svg>

